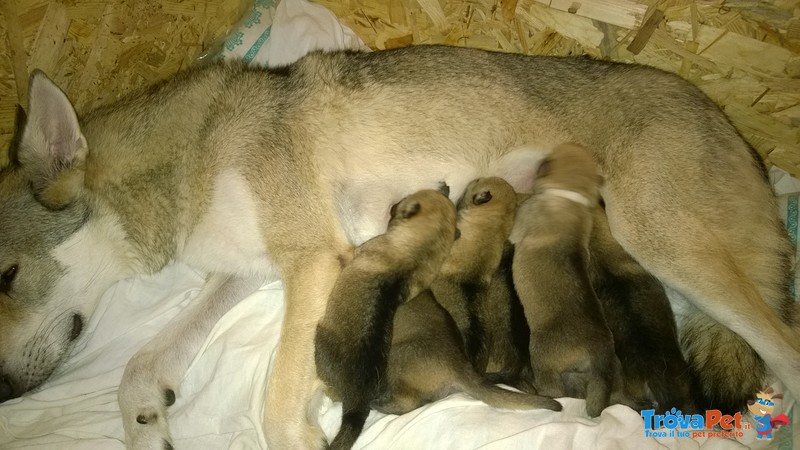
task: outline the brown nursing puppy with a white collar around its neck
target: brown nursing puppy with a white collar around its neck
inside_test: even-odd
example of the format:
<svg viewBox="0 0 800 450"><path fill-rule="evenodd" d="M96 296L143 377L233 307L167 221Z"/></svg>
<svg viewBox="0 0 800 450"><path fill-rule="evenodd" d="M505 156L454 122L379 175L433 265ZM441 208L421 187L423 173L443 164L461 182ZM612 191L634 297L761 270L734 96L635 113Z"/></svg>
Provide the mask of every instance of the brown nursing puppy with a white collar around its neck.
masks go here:
<svg viewBox="0 0 800 450"><path fill-rule="evenodd" d="M542 395L608 405L619 360L587 269L601 178L582 147L564 144L540 166L533 195L518 210L513 279L531 328L535 385Z"/></svg>

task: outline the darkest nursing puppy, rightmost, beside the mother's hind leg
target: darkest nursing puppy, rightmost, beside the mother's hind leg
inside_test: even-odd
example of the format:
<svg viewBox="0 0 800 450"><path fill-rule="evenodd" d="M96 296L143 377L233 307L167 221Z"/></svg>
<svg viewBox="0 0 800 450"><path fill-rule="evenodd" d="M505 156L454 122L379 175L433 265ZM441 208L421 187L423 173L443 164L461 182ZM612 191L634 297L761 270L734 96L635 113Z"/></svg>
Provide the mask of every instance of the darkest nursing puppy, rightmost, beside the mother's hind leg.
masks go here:
<svg viewBox="0 0 800 450"><path fill-rule="evenodd" d="M589 255L592 287L614 335L625 392L642 404L654 402L657 411L694 413L691 371L664 287L614 239L602 208L595 209Z"/></svg>

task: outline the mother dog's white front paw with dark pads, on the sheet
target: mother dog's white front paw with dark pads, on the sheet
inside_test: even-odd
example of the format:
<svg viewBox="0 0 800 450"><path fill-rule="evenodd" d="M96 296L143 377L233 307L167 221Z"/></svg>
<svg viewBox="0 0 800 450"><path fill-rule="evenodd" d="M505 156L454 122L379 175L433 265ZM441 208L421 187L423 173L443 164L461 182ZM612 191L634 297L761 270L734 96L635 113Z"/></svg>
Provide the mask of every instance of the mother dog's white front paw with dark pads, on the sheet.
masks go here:
<svg viewBox="0 0 800 450"><path fill-rule="evenodd" d="M143 364L143 358L135 357L125 368L120 384L118 399L129 449L173 448L167 408L175 403L175 390L154 377L151 367Z"/></svg>

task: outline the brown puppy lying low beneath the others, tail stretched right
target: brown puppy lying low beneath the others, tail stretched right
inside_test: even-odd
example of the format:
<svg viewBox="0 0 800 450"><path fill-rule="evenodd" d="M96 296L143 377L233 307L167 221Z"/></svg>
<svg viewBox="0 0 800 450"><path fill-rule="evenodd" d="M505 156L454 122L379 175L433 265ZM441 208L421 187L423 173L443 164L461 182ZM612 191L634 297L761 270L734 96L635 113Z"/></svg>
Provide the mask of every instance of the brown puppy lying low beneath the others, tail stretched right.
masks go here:
<svg viewBox="0 0 800 450"><path fill-rule="evenodd" d="M430 291L397 308L387 382L385 395L372 403L387 414L405 414L454 392L495 408L561 410L552 398L508 391L481 377L467 359L456 323Z"/></svg>

